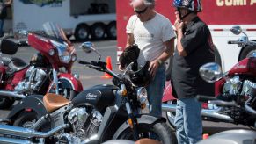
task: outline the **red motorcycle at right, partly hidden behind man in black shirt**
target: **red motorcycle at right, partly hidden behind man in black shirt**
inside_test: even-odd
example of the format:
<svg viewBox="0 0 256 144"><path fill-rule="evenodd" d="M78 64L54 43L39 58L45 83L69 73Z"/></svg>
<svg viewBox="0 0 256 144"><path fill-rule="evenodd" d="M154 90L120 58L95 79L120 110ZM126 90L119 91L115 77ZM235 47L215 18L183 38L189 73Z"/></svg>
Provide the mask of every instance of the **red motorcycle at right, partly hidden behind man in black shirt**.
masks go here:
<svg viewBox="0 0 256 144"><path fill-rule="evenodd" d="M241 27L233 26L230 29L234 34L242 32ZM244 32L243 32L244 33ZM229 44L238 44L238 47L252 48L256 47L256 43L248 40L247 35L239 40L229 41ZM202 67L203 68L203 67ZM203 74L200 72L200 74ZM202 76L203 78L203 76ZM233 124L242 124L245 126L256 127L255 118L250 112L245 112L244 109L238 109L241 104L246 104L244 108L256 110L256 54L252 53L239 61L233 68L230 69L222 78L212 80L216 83L216 97L238 98L237 106L220 106L217 104L202 103L201 116L203 120L228 122ZM167 87L168 88L168 87ZM171 92L171 85L169 90ZM172 94L169 93L169 96ZM175 129L174 119L176 111L176 99L173 97L164 97L167 103L162 104L163 111L166 111L167 119Z"/></svg>

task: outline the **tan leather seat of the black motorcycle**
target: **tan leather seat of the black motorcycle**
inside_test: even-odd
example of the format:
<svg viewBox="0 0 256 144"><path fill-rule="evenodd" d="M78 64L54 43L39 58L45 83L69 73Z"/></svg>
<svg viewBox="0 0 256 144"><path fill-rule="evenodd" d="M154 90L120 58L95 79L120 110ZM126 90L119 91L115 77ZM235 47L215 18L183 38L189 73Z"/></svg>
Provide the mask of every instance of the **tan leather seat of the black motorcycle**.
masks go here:
<svg viewBox="0 0 256 144"><path fill-rule="evenodd" d="M43 97L43 103L48 112L54 112L55 110L67 105L71 104L71 101L62 97L62 95L56 95L53 93L47 93Z"/></svg>

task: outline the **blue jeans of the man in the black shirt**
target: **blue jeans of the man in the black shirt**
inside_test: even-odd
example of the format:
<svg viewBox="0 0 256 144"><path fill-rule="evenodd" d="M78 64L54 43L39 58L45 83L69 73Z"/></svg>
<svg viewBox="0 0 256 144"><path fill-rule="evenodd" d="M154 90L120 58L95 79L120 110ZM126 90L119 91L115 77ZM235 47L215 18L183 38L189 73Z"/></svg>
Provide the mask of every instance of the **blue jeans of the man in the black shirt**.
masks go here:
<svg viewBox="0 0 256 144"><path fill-rule="evenodd" d="M176 117L177 139L179 144L194 144L201 140L201 103L196 98L182 98L177 101Z"/></svg>

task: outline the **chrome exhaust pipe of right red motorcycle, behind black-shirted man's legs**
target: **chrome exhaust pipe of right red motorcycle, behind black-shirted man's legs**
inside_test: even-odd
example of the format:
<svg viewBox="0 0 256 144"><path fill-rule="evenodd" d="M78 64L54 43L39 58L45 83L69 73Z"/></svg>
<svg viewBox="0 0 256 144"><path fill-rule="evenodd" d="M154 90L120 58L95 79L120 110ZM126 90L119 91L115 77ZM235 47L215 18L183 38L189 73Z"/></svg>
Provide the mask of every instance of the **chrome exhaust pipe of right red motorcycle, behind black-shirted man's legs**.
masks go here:
<svg viewBox="0 0 256 144"><path fill-rule="evenodd" d="M221 109L222 109L221 107L213 110L202 109L201 116L221 119L227 122L234 122L234 119L232 119L230 116L219 114L218 112L221 111ZM162 110L163 112L176 112L176 104L162 104Z"/></svg>

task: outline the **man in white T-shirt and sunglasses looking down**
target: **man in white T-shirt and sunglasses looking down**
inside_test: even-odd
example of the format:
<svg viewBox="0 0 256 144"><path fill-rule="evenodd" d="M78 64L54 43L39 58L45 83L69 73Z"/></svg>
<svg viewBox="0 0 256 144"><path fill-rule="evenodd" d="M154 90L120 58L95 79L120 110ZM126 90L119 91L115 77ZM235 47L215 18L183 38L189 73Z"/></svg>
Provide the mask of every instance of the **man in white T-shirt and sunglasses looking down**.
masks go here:
<svg viewBox="0 0 256 144"><path fill-rule="evenodd" d="M152 80L147 86L150 114L162 115L162 97L165 88L165 60L173 54L175 34L168 18L154 10L155 0L133 0L135 15L127 25L127 47L140 48L138 65L150 61Z"/></svg>

